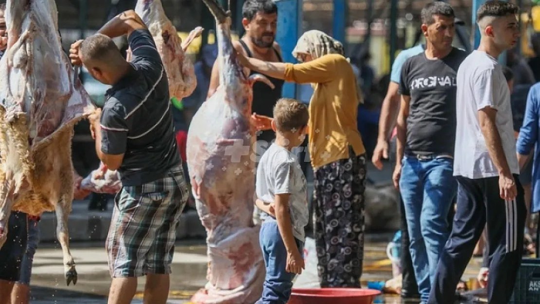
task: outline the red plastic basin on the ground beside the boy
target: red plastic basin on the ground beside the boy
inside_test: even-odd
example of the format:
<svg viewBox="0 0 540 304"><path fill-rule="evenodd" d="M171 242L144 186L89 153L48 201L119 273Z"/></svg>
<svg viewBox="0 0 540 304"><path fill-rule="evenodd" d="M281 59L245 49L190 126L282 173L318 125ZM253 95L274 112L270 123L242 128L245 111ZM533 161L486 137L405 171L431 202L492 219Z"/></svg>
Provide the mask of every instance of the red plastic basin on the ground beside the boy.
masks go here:
<svg viewBox="0 0 540 304"><path fill-rule="evenodd" d="M372 304L380 294L363 288L293 288L287 304Z"/></svg>

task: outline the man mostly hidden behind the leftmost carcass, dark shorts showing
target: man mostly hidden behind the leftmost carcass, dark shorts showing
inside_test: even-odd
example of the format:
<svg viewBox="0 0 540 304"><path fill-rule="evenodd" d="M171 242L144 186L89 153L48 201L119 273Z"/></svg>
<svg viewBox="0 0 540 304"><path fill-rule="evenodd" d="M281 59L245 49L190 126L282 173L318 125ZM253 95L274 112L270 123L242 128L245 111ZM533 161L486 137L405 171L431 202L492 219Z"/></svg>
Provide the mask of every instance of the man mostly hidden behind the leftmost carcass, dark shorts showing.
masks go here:
<svg viewBox="0 0 540 304"><path fill-rule="evenodd" d="M5 4L0 5L0 58L8 44L8 32L4 18ZM1 229L1 228L0 228ZM26 213L12 211L8 220L8 235L0 248L0 304L9 304L11 290L21 274L21 262L28 239L28 217Z"/></svg>

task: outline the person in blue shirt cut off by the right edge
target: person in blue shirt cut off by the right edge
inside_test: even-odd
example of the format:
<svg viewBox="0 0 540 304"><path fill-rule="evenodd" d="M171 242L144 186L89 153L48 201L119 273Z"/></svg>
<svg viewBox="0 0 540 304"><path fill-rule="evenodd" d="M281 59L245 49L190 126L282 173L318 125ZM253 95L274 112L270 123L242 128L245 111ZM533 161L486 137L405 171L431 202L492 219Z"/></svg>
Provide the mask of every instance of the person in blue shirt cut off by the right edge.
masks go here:
<svg viewBox="0 0 540 304"><path fill-rule="evenodd" d="M540 83L531 86L527 95L527 105L525 106L525 116L523 124L519 129L517 138L516 150L519 168L523 170L527 164L530 154L532 158L532 179L531 179L531 206L530 212L535 213L540 211L540 149L535 149L535 146L540 143L539 132L540 120ZM539 231L537 231L536 252L538 253Z"/></svg>

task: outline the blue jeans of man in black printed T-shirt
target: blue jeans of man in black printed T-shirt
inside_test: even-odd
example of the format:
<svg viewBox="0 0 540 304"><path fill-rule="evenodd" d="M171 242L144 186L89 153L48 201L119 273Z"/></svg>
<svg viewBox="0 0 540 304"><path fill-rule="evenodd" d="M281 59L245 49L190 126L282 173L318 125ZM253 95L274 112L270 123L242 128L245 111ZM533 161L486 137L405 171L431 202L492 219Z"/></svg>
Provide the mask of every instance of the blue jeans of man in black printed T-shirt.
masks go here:
<svg viewBox="0 0 540 304"><path fill-rule="evenodd" d="M450 234L448 212L456 191L452 159L403 158L400 192L407 218L410 255L423 302L429 298L439 255Z"/></svg>

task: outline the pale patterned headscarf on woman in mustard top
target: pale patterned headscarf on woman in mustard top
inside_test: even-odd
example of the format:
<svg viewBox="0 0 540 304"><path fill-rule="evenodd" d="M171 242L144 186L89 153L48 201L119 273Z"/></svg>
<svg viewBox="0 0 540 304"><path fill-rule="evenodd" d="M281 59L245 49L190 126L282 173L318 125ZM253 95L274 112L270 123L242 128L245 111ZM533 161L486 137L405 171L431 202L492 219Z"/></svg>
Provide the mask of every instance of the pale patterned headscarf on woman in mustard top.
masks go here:
<svg viewBox="0 0 540 304"><path fill-rule="evenodd" d="M318 30L307 31L298 39L293 50L294 58L298 58L301 53L309 54L313 59L327 54L344 55L341 42Z"/></svg>

